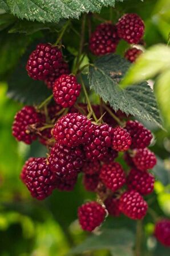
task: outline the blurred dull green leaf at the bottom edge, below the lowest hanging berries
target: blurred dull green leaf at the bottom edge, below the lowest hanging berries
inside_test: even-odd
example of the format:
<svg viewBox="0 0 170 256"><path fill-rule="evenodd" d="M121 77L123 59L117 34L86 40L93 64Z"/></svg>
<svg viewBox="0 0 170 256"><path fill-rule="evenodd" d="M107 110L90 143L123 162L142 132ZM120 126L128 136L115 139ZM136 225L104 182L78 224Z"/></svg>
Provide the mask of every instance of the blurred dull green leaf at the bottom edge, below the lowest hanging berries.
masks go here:
<svg viewBox="0 0 170 256"><path fill-rule="evenodd" d="M127 229L106 229L100 235L91 235L82 244L70 251L70 254L79 254L84 251L108 249L114 256L132 256L134 236ZM127 253L126 253L127 251Z"/></svg>

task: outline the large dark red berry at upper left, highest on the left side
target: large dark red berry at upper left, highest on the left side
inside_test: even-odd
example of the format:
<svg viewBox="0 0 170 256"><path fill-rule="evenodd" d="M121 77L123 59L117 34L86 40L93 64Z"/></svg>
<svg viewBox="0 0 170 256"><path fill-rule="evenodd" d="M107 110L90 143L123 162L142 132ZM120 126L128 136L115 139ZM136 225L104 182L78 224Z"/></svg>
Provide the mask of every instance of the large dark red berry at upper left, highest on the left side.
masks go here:
<svg viewBox="0 0 170 256"><path fill-rule="evenodd" d="M62 53L56 46L39 43L31 53L26 65L28 75L35 80L44 80L59 67Z"/></svg>

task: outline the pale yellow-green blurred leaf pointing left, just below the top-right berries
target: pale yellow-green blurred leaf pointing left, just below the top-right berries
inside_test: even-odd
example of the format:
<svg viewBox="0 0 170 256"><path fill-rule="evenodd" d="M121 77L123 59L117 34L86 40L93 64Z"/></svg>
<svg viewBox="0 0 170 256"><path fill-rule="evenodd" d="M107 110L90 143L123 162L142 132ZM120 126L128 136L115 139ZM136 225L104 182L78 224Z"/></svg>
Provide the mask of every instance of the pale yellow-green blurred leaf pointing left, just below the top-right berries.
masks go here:
<svg viewBox="0 0 170 256"><path fill-rule="evenodd" d="M167 35L168 37L168 35ZM170 67L170 47L155 45L140 55L136 63L131 66L121 82L123 87L129 84L144 81Z"/></svg>

